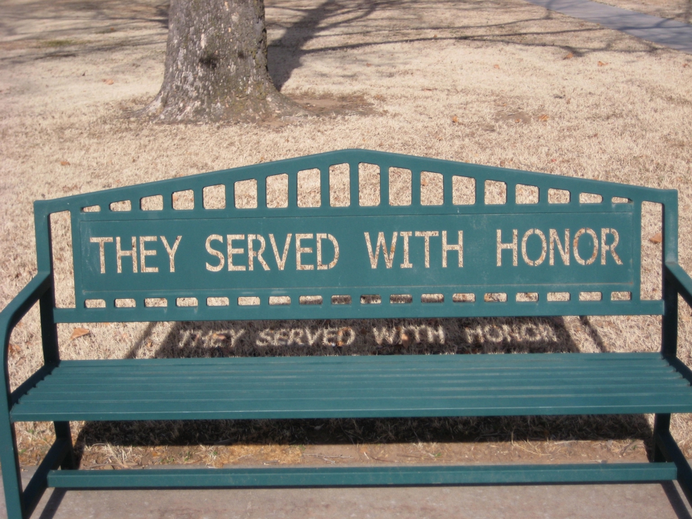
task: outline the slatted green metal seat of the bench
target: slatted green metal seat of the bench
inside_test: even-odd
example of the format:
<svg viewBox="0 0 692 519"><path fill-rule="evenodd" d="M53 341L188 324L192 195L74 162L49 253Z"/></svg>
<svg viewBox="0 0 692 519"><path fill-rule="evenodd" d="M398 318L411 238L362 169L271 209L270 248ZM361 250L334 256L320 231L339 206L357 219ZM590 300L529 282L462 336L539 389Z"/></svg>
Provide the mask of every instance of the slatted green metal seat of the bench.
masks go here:
<svg viewBox="0 0 692 519"><path fill-rule="evenodd" d="M61 361L19 397L11 419L673 411L692 412L692 388L658 353L313 356Z"/></svg>

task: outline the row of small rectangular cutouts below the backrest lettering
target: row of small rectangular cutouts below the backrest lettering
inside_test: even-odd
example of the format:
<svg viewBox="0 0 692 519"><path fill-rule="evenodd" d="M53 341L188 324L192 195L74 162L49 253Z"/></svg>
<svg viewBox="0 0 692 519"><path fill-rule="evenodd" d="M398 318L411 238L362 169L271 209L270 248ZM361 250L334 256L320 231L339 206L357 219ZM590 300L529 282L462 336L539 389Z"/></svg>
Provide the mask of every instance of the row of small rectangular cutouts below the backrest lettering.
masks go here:
<svg viewBox="0 0 692 519"><path fill-rule="evenodd" d="M382 304L382 298L379 294L363 294L360 297L361 304ZM421 303L444 303L444 294L441 293L425 293L421 295ZM455 293L452 295L452 301L455 303L475 302L475 293ZM507 302L506 292L488 292L483 294L483 301L487 303ZM538 302L538 292L519 292L516 294L516 302ZM569 292L548 292L546 294L547 302L568 302L571 300ZM581 302L598 302L603 300L601 292L579 292L579 301ZM628 291L615 291L610 293L611 301L630 301L632 293ZM413 297L411 294L392 294L389 298L390 304L412 304ZM136 300L131 298L116 299L114 301L116 308L135 308ZM268 299L270 306L286 306L291 304L291 298L288 295L272 295ZM208 307L228 307L230 299L225 297L207 298L206 304ZM237 298L237 304L240 307L257 307L262 304L262 300L255 296L241 296ZM321 295L301 295L298 298L298 304L301 305L320 305L322 304ZM352 304L350 295L332 295L331 304ZM197 307L199 302L197 298L175 298L176 307ZM147 308L165 308L168 306L166 298L145 298L144 306ZM84 307L88 309L106 308L106 301L103 299L87 299L84 302Z"/></svg>

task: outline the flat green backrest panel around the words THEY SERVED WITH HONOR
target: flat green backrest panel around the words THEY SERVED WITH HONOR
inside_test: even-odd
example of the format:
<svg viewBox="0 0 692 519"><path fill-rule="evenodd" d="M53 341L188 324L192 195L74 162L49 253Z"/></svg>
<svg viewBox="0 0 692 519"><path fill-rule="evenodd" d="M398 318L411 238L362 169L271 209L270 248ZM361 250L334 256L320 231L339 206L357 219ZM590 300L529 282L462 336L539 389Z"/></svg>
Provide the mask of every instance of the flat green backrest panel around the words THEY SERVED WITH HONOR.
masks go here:
<svg viewBox="0 0 692 519"><path fill-rule="evenodd" d="M553 265L550 264L549 246L543 260L537 266L527 264L522 254L522 237L529 229L538 228L549 242L549 229L557 230L559 247L565 247L565 229L570 230L567 243L567 254L570 256L565 265L554 245ZM542 229L541 229L542 228ZM579 239L580 259L590 260L592 253L597 252L596 261L581 265L574 257L572 241L580 228L594 229L597 243L592 237L584 234ZM619 243L615 248L617 264L610 251L605 253L605 264L601 260L601 229L616 228ZM518 230L518 262L513 265L513 251L504 249L502 265L497 264L496 231L501 230L502 241L512 242L513 230ZM425 237L415 236L415 232L432 231L437 236L428 237L428 266L426 267ZM459 251L446 251L446 267L443 267L442 232L447 233L449 246L458 244L458 232L462 231L464 246L463 266L459 267ZM366 239L365 233L368 238ZM384 249L390 255L394 244L393 260L385 258L382 246L376 247L379 233L385 238ZM404 240L401 233L411 233L408 238L408 260L404 257ZM334 261L334 244L329 239L320 239L322 269L318 269L317 239L318 234L329 234L336 239L340 254L336 265L328 268ZM209 236L218 236L223 241L214 240L213 251L218 251L221 258L210 254L206 248ZM234 239L233 248L242 251L232 255L233 267L242 271L229 271L228 235L243 236ZM262 260L252 257L253 270L248 264L248 235L259 235L264 241ZM290 236L289 236L290 235ZM309 236L300 241L301 268L298 269L296 255L296 235ZM459 291L473 291L493 286L497 291L521 290L523 286L536 287L554 285L570 277L575 289L583 291L626 291L634 283L632 271L632 215L630 213L590 213L580 215L556 214L549 221L544 215L517 215L508 219L506 215L399 215L399 216L361 216L361 217L312 217L312 218L239 218L239 219L172 219L146 221L90 221L80 226L80 247L82 248L81 288L85 297L98 298L99 291L110 293L119 291L123 298L145 291L161 291L165 286L170 297L176 290L203 292L200 289L215 290L221 294L222 289L290 289L300 287L332 288L361 286L363 289L385 289L401 291L408 286L439 289L454 286ZM91 243L90 239L122 237L122 248L131 249L131 237L136 237L137 272L133 272L131 257L121 257L118 273L116 266L116 244L104 243L105 272L100 272L100 246ZM140 253L140 236L153 237L145 243L145 268L156 269L156 272L143 272ZM172 244L176 237L181 241L174 256L175 271L170 271L170 258L161 236L167 236ZM277 242L276 253L271 245L270 236ZM394 239L392 239L394 237ZM286 239L289 248L285 248ZM607 244L612 244L613 235L607 235ZM125 243L127 242L127 243ZM380 242L382 244L382 242ZM367 248L370 244L370 250ZM510 243L511 244L511 243ZM530 235L526 241L526 256L531 262L542 257L543 240L539 235ZM254 251L262 246L259 239L253 239ZM287 251L284 256L284 251ZM154 254L151 254L154 253ZM372 268L372 256L376 256ZM282 261L285 257L285 262ZM411 265L402 267L402 265ZM219 271L210 271L219 268ZM283 267L280 270L280 266ZM504 286L509 285L509 286ZM338 291L337 291L338 292ZM451 296L451 294L450 294Z"/></svg>

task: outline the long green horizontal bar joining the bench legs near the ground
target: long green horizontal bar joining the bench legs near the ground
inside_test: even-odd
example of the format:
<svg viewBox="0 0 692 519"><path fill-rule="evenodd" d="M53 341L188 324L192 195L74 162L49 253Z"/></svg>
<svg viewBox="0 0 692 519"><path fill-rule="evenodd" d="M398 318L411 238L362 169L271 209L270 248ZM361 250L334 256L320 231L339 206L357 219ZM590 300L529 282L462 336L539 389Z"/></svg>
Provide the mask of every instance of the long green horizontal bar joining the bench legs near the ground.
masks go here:
<svg viewBox="0 0 692 519"><path fill-rule="evenodd" d="M673 463L216 468L149 471L52 471L48 484L69 489L239 488L655 482L674 480Z"/></svg>

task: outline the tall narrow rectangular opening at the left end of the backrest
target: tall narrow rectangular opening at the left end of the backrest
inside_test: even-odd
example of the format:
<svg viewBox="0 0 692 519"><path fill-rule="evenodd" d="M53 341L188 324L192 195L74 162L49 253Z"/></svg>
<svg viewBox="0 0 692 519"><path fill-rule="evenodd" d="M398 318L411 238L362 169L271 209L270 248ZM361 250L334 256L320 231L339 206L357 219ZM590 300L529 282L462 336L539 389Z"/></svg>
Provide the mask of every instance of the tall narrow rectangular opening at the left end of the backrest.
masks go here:
<svg viewBox="0 0 692 519"><path fill-rule="evenodd" d="M50 216L53 242L53 279L55 307L75 308L75 271L72 256L72 222L69 211Z"/></svg>

